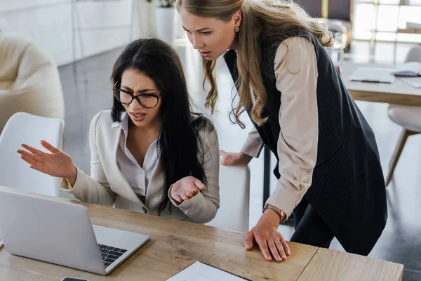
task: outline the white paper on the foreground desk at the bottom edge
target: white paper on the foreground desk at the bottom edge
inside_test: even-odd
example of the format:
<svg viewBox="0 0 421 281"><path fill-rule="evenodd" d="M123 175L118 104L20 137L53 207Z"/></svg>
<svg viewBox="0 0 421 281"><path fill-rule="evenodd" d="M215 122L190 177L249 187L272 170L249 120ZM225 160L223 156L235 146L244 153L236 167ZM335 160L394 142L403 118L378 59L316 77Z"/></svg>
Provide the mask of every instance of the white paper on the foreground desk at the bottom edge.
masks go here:
<svg viewBox="0 0 421 281"><path fill-rule="evenodd" d="M242 277L196 261L166 281L244 281Z"/></svg>

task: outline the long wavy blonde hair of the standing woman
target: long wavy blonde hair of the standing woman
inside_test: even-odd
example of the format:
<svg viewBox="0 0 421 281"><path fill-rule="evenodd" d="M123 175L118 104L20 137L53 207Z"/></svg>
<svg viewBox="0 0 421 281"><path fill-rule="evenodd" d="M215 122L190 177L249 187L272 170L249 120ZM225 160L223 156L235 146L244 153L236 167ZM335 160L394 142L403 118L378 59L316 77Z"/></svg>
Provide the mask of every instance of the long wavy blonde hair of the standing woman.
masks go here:
<svg viewBox="0 0 421 281"><path fill-rule="evenodd" d="M239 89L239 104L233 108L234 123L244 128L239 116L252 105L251 90L255 103L251 110L253 121L262 125L266 118L262 118L262 111L267 105L267 93L260 73L262 47L260 41L265 37L273 37L283 41L288 38L288 32L295 29L310 32L316 36L324 46L332 44L332 36L326 25L311 18L298 4L293 1L269 0L177 0L176 8L184 8L189 13L204 18L218 18L225 22L232 20L237 11L241 11L241 28L238 32L239 52L237 67L239 79L235 81ZM210 91L206 97L206 107L213 112L218 98L215 81L216 61L203 58L203 72L210 84Z"/></svg>

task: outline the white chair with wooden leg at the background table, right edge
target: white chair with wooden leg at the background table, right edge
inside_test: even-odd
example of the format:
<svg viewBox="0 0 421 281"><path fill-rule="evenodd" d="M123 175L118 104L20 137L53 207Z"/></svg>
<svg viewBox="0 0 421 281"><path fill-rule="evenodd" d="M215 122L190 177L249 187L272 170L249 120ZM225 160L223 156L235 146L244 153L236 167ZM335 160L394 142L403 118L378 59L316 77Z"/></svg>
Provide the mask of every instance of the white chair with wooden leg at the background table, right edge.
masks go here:
<svg viewBox="0 0 421 281"><path fill-rule="evenodd" d="M406 55L405 62L420 62L421 63L421 46L410 48ZM399 157L403 150L403 146L408 139L408 136L421 133L421 107L419 106L406 106L406 105L389 105L388 110L389 118L403 127L401 137L396 145L392 159L389 163L389 174L386 178L386 186L389 185L393 177L394 169L398 163Z"/></svg>

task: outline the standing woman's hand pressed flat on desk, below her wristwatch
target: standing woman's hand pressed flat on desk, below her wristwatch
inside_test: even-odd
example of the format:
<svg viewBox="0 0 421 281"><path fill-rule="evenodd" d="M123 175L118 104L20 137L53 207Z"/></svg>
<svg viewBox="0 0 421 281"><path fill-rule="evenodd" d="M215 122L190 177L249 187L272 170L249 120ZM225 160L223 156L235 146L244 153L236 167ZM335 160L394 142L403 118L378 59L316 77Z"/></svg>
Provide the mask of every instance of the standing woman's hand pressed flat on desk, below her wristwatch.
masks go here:
<svg viewBox="0 0 421 281"><path fill-rule="evenodd" d="M258 224L247 233L246 250L253 248L254 238L267 261L272 261L272 256L276 261L285 261L286 256L290 254L290 249L278 231L279 221L279 214L272 209L267 209L260 217Z"/></svg>

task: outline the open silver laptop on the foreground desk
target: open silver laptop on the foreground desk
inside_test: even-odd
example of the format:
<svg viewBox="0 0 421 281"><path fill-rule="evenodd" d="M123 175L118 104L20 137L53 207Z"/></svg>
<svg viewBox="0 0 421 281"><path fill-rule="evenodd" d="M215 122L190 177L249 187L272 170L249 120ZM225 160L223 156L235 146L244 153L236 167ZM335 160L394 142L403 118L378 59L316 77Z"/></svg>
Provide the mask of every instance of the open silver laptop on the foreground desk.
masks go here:
<svg viewBox="0 0 421 281"><path fill-rule="evenodd" d="M80 204L0 191L0 237L10 254L107 275L149 237L92 225Z"/></svg>

